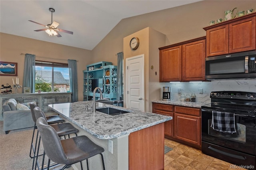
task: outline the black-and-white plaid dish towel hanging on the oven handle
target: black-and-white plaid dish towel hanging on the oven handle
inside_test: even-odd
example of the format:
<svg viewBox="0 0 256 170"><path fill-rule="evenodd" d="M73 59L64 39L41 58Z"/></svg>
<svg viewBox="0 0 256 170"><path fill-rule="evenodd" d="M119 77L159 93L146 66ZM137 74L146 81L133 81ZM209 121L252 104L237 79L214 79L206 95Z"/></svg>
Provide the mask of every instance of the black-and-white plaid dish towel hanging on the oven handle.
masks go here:
<svg viewBox="0 0 256 170"><path fill-rule="evenodd" d="M220 132L235 133L235 114L227 112L212 111L212 125L214 130Z"/></svg>

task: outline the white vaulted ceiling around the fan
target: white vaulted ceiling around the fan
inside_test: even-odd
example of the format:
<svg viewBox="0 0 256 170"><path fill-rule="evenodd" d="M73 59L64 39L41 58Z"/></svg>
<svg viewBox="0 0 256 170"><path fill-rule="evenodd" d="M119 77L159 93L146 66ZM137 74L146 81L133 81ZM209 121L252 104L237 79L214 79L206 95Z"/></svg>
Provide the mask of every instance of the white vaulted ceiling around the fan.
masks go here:
<svg viewBox="0 0 256 170"><path fill-rule="evenodd" d="M0 0L0 32L92 50L123 18L200 0ZM54 8L55 12L49 11ZM51 20L74 32L62 37L35 32Z"/></svg>

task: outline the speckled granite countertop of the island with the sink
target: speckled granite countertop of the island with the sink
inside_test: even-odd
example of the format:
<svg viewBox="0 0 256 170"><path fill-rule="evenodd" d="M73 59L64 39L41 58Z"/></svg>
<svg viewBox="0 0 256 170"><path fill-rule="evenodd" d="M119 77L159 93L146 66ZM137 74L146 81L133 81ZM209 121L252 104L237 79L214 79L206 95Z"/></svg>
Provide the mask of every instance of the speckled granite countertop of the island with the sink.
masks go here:
<svg viewBox="0 0 256 170"><path fill-rule="evenodd" d="M91 106L88 107L89 109L87 111L84 109L86 105L91 104L91 101L80 101L48 106L78 127L100 139L116 138L143 128L172 120L172 117L170 116L146 113L99 102L96 102L96 109L112 107L123 111L130 111L131 113L112 116L96 111L94 114Z"/></svg>

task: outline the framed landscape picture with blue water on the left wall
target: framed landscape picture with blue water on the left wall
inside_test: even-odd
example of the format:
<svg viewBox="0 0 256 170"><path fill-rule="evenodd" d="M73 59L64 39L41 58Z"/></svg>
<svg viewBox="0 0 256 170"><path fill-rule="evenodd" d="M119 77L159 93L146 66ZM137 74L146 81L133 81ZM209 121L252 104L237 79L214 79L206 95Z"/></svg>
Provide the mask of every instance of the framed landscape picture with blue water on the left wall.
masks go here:
<svg viewBox="0 0 256 170"><path fill-rule="evenodd" d="M0 75L17 76L18 63L0 61Z"/></svg>

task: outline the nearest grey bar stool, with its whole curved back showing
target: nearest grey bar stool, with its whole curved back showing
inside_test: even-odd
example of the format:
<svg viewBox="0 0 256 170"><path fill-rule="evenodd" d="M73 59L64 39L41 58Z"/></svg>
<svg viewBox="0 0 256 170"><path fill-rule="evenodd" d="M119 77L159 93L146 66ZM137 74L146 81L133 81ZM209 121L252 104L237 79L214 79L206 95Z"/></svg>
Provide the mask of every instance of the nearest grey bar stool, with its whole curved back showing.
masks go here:
<svg viewBox="0 0 256 170"><path fill-rule="evenodd" d="M47 170L49 170L50 160L58 164L64 164L65 166L62 168L62 170L77 162L80 162L81 168L83 169L82 161L86 160L87 169L89 169L88 158L97 154L101 155L102 168L105 170L102 155L104 148L92 142L92 140L90 140L87 136L76 136L73 138L60 140L56 130L47 125L44 118L38 118L36 126L38 127L38 131L42 138L46 155L49 158Z"/></svg>

